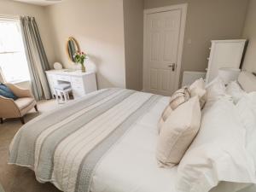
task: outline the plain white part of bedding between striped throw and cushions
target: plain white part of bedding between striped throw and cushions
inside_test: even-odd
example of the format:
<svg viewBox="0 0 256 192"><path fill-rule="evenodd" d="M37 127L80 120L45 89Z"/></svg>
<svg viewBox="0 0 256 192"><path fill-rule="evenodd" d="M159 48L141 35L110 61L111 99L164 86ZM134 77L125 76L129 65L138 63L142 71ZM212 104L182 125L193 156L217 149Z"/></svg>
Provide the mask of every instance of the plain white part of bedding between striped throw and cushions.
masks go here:
<svg viewBox="0 0 256 192"><path fill-rule="evenodd" d="M104 156L91 192L175 192L177 167L160 168L155 159L156 125L168 101L162 98Z"/></svg>

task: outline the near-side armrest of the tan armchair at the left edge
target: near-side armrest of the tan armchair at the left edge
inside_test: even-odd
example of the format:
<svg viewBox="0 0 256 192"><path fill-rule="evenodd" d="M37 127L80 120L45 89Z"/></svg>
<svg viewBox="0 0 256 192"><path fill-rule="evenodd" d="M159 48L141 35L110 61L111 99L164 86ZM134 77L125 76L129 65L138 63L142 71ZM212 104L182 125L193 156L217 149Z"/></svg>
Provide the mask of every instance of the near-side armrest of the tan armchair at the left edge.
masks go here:
<svg viewBox="0 0 256 192"><path fill-rule="evenodd" d="M20 117L20 110L13 99L0 96L0 117L15 118Z"/></svg>

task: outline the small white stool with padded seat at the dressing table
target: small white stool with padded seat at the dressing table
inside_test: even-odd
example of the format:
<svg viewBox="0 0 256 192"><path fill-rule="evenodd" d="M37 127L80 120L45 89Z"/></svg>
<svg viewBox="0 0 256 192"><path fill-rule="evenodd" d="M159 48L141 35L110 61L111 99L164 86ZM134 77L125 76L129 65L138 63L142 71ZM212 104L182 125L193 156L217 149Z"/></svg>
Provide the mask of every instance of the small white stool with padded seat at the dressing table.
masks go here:
<svg viewBox="0 0 256 192"><path fill-rule="evenodd" d="M56 100L58 103L59 102L59 96L61 98L61 103L63 102L67 102L67 100L69 100L69 92L71 92L71 85L70 84L58 84L55 85L55 96L56 96ZM62 100L62 98L64 97L64 101Z"/></svg>

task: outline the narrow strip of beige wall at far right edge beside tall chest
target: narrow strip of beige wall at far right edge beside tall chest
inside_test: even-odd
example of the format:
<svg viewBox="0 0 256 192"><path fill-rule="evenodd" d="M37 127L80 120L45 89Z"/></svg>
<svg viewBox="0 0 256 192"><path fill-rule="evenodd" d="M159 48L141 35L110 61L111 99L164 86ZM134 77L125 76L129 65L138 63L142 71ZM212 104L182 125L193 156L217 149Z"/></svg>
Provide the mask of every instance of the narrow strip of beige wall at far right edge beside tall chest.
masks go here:
<svg viewBox="0 0 256 192"><path fill-rule="evenodd" d="M256 72L256 1L250 0L247 10L242 38L247 38L249 44L243 63L243 68L250 72Z"/></svg>

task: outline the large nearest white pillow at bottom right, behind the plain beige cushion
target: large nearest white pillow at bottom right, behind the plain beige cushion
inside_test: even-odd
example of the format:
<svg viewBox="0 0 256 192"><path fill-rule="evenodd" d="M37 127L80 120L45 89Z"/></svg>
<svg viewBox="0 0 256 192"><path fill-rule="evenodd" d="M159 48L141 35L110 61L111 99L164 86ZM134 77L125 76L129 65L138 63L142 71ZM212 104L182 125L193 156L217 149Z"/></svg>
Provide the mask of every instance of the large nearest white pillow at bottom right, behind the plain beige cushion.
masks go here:
<svg viewBox="0 0 256 192"><path fill-rule="evenodd" d="M219 182L256 183L236 106L222 98L203 111L201 129L177 167L177 192L206 192Z"/></svg>

